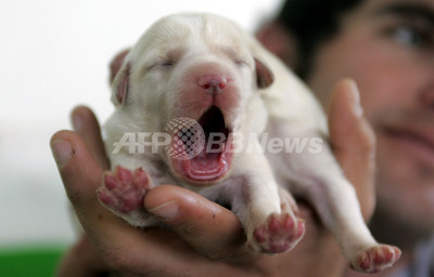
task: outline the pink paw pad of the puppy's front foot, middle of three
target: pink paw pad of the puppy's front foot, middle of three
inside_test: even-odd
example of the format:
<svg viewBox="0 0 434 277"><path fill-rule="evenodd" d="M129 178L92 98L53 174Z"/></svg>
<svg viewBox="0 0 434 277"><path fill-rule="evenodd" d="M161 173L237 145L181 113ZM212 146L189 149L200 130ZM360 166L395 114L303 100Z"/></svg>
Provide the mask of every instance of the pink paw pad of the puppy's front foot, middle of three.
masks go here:
<svg viewBox="0 0 434 277"><path fill-rule="evenodd" d="M305 233L305 223L288 213L271 214L253 234L251 248L260 253L282 253L293 249Z"/></svg>

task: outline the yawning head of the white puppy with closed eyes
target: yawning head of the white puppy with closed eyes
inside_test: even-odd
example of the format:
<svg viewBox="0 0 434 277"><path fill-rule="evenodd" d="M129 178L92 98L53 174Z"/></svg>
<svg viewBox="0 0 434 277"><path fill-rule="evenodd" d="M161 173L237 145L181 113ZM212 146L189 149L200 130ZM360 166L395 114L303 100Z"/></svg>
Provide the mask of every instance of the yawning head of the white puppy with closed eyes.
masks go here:
<svg viewBox="0 0 434 277"><path fill-rule="evenodd" d="M204 140L194 157L161 154L173 172L191 184L213 184L227 175L233 156L230 134L246 121L258 90L273 81L265 63L252 54L252 41L216 15L167 16L139 39L114 79L112 101L126 120L141 124L136 131L164 131L179 118L200 124ZM181 133L193 128L187 126ZM222 140L209 147L216 133ZM171 143L186 150L179 134L173 134Z"/></svg>

